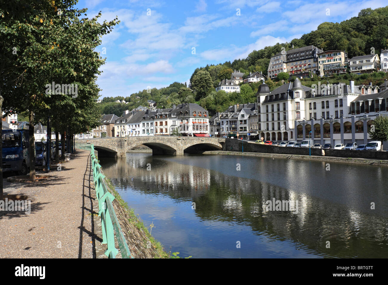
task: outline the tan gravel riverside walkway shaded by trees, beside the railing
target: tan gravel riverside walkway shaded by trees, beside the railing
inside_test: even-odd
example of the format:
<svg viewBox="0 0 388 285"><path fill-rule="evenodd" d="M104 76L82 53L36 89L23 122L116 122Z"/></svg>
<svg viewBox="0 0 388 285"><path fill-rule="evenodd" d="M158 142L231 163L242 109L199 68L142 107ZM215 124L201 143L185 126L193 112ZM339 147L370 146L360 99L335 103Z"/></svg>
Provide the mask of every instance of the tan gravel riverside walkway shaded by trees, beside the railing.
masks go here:
<svg viewBox="0 0 388 285"><path fill-rule="evenodd" d="M90 152L77 150L49 181L10 183L6 194L33 197L31 214L0 211L0 258L96 258L104 255Z"/></svg>

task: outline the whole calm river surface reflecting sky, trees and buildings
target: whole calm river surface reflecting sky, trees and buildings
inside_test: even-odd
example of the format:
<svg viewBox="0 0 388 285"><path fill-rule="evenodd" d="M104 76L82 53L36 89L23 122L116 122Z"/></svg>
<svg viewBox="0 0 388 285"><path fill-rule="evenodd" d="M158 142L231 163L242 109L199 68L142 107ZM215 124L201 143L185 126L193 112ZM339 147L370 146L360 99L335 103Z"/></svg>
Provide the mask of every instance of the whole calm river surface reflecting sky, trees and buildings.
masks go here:
<svg viewBox="0 0 388 285"><path fill-rule="evenodd" d="M387 257L388 168L330 164L326 171L323 161L239 155L101 158L121 197L145 225L154 223L152 235L182 257ZM267 211L274 198L297 200L298 213Z"/></svg>

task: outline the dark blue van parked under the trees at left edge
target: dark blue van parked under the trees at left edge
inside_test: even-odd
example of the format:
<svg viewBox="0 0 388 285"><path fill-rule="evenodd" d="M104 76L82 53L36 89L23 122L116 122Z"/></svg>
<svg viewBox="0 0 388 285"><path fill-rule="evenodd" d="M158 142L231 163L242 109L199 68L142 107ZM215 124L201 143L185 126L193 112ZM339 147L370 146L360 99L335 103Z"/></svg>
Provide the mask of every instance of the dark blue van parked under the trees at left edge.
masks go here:
<svg viewBox="0 0 388 285"><path fill-rule="evenodd" d="M17 171L27 175L29 166L28 130L2 130L3 172Z"/></svg>

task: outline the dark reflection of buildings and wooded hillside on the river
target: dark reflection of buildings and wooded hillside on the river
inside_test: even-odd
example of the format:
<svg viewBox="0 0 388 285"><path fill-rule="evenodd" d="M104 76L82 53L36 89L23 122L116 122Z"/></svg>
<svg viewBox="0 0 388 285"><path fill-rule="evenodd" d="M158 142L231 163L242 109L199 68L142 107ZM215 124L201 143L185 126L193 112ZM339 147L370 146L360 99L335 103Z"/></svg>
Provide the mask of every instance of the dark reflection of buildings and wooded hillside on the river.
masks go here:
<svg viewBox="0 0 388 285"><path fill-rule="evenodd" d="M206 162L201 164L198 159ZM386 201L386 193L368 192L363 187L370 181L364 181L365 178L359 175L346 175L365 171L365 166L331 163L331 169L336 172L328 172L325 162L258 158L256 161L247 159L244 163L253 163L246 167L250 170L239 172L235 171L236 161L233 159L237 161L237 157L227 156L172 158L132 153L126 159L102 159L101 164L104 174L119 191L147 195L161 193L175 202L195 202L195 217L187 223L192 224L199 218L248 226L254 235L288 240L294 247L301 247L316 256L388 256L385 212L371 213L367 207L360 206L366 202L359 201L375 200L376 197ZM265 166L258 161L265 162ZM147 164L151 170L147 170ZM274 172L270 172L274 170L270 169L272 165ZM374 169L375 173L373 168L369 169L371 179L387 175L386 169ZM319 180L326 181L326 184ZM343 183L358 187L354 187L352 192L346 189L341 192L336 185ZM298 200L298 213L266 211L266 201L273 198ZM358 202L350 203L354 200ZM207 230L201 223L195 225L197 230ZM228 229L233 234L235 227L231 225ZM327 240L335 250L326 249Z"/></svg>

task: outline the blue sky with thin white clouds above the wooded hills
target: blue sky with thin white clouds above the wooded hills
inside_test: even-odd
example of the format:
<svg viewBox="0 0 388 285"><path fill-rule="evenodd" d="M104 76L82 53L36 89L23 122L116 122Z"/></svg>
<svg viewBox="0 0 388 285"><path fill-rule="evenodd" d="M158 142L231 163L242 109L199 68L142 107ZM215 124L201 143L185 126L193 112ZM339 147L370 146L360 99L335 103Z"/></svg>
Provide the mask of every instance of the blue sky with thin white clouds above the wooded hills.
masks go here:
<svg viewBox="0 0 388 285"><path fill-rule="evenodd" d="M103 98L189 83L196 67L245 58L252 50L299 38L322 22L385 5L386 0L80 0L76 7L88 8L90 17L101 11L101 21L116 16L121 21L97 48L106 50L97 80Z"/></svg>

